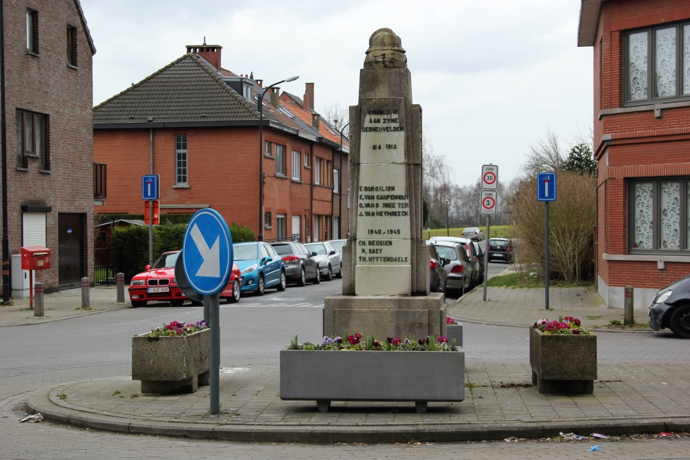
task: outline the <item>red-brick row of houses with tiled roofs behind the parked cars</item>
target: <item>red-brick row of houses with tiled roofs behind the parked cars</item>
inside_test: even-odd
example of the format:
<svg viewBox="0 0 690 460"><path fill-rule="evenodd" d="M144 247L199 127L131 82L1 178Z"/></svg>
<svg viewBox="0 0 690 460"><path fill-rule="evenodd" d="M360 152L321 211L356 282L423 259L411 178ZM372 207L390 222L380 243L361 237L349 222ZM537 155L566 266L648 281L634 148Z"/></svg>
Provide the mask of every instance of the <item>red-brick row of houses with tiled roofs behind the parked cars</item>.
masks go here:
<svg viewBox="0 0 690 460"><path fill-rule="evenodd" d="M214 208L266 241L344 234L347 201L338 200L342 187L334 178L348 183L348 163L333 162L339 134L310 106L282 103L274 87L263 99L260 150L263 82L222 68L221 50L187 46L182 57L94 108L94 157L108 165L108 200L95 213L143 214L141 176L159 174L161 214ZM313 101L313 83L306 88ZM334 197L344 212L334 210Z"/></svg>

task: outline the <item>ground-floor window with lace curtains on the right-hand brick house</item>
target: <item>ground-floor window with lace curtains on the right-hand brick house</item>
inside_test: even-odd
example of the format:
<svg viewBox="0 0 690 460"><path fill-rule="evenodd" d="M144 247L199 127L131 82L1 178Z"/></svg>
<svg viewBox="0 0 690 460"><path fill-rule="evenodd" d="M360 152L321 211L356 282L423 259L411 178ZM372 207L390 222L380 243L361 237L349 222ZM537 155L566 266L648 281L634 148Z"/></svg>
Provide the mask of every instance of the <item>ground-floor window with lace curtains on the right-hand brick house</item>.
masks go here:
<svg viewBox="0 0 690 460"><path fill-rule="evenodd" d="M688 252L690 177L635 180L629 187L630 252Z"/></svg>

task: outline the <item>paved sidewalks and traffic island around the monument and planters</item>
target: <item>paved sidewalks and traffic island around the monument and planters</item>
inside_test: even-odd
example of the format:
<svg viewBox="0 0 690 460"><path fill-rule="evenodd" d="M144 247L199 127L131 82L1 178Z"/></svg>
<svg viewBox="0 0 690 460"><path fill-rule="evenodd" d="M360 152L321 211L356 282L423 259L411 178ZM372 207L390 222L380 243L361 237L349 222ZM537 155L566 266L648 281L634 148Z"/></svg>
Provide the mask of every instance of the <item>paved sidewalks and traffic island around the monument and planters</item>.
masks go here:
<svg viewBox="0 0 690 460"><path fill-rule="evenodd" d="M591 288L551 288L550 310L539 289L481 287L448 304L449 316L466 323L525 327L559 315L584 326L622 320ZM28 299L0 307L1 326L30 325L97 314L117 303L115 287L45 296L45 317L33 317ZM646 312L635 311L639 322ZM597 332L610 334L614 332ZM623 332L635 334L635 332ZM649 333L649 332L648 332ZM631 336L633 337L633 336ZM467 343L465 343L467 345ZM279 399L279 363L221 368L221 413L209 413L209 387L191 394L142 394L129 376L61 383L34 392L27 412L49 421L97 430L195 439L262 442L480 441L554 437L559 432L620 435L690 430L690 363L600 362L593 394L540 394L531 386L529 362L466 359L464 401L429 403L417 414L411 402L337 402L317 412L315 401ZM363 376L364 381L364 376Z"/></svg>

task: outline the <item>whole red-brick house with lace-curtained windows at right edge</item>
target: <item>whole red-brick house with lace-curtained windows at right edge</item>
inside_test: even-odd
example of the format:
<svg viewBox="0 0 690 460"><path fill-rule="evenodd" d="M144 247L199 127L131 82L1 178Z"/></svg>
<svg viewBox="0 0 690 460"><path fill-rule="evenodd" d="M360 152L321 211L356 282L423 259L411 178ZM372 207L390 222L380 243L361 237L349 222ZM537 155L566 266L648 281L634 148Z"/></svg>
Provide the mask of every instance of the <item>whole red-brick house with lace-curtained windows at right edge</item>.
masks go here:
<svg viewBox="0 0 690 460"><path fill-rule="evenodd" d="M582 0L593 47L599 293L635 308L690 272L690 3Z"/></svg>

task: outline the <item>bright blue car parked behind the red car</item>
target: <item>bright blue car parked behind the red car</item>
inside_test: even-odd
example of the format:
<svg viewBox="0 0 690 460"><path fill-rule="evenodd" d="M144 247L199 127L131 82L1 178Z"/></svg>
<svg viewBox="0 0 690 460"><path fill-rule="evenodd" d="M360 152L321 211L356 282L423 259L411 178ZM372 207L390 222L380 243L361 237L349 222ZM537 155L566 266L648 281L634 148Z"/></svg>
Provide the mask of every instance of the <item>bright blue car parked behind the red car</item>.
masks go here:
<svg viewBox="0 0 690 460"><path fill-rule="evenodd" d="M241 292L264 295L266 288L284 291L286 286L283 259L263 241L233 244L235 263L242 272Z"/></svg>

